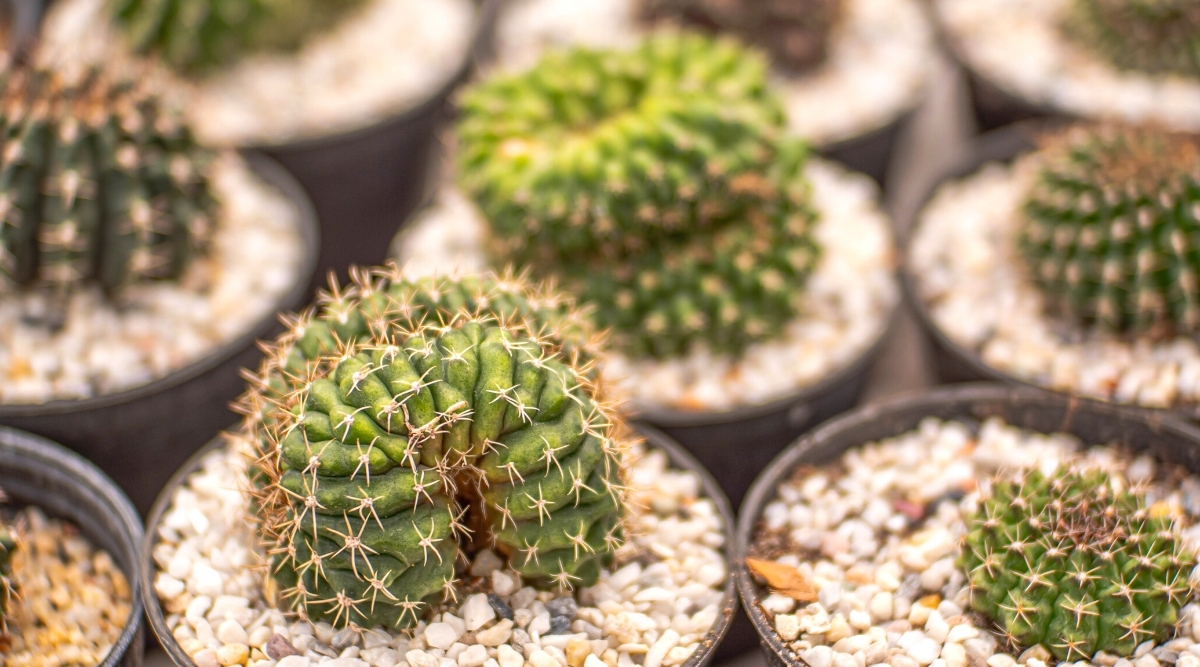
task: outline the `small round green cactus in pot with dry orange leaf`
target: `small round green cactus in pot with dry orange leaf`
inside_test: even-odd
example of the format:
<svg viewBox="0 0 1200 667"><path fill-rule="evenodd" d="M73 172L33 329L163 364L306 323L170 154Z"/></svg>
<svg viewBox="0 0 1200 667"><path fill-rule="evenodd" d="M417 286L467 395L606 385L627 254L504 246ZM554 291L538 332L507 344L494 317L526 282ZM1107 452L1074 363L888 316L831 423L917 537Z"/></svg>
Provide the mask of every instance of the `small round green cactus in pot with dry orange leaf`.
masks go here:
<svg viewBox="0 0 1200 667"><path fill-rule="evenodd" d="M1169 510L1093 469L994 479L967 517L959 565L971 607L1016 650L1058 661L1129 656L1169 638L1190 595L1194 554Z"/></svg>

